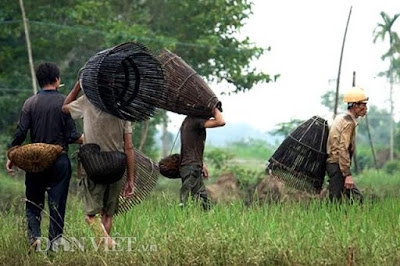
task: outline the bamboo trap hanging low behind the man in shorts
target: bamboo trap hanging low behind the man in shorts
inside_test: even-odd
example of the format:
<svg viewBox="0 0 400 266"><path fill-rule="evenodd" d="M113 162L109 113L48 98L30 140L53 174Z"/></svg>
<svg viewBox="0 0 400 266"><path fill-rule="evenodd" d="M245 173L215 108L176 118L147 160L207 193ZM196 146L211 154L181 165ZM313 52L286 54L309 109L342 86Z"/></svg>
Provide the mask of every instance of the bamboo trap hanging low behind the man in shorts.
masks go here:
<svg viewBox="0 0 400 266"><path fill-rule="evenodd" d="M158 166L146 155L135 149L135 191L129 199L123 197L123 188L119 196L118 213L129 211L135 205L140 204L157 184L160 175ZM126 182L126 175L123 177Z"/></svg>

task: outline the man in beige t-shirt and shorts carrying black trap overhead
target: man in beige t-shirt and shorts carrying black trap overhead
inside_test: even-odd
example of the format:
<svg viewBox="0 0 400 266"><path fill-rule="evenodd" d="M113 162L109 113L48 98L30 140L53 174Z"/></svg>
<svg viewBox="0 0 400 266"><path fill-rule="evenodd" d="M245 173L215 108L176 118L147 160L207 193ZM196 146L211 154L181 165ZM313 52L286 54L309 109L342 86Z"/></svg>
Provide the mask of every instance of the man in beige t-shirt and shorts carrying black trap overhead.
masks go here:
<svg viewBox="0 0 400 266"><path fill-rule="evenodd" d="M65 99L62 110L70 113L73 119L83 119L84 143L95 143L101 151L120 151L127 156L127 179L124 196L131 197L134 190L134 152L132 144L131 122L114 117L95 107L83 95L78 99L79 82ZM108 247L115 245L110 237L113 215L118 209L118 198L123 178L111 184L95 183L84 176L80 187L83 192L83 203L86 222L93 229L96 237L104 237ZM100 215L100 218L97 217Z"/></svg>

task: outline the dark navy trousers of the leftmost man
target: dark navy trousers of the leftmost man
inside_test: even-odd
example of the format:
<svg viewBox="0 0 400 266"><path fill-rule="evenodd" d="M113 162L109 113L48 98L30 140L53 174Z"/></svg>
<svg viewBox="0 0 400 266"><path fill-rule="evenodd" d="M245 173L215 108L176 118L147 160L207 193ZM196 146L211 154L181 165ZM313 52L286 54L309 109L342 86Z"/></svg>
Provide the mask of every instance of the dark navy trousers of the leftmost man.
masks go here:
<svg viewBox="0 0 400 266"><path fill-rule="evenodd" d="M62 235L70 179L71 163L66 153L58 156L43 172L25 174L25 214L30 244L41 236L40 222L45 192L50 210L49 240L52 242Z"/></svg>

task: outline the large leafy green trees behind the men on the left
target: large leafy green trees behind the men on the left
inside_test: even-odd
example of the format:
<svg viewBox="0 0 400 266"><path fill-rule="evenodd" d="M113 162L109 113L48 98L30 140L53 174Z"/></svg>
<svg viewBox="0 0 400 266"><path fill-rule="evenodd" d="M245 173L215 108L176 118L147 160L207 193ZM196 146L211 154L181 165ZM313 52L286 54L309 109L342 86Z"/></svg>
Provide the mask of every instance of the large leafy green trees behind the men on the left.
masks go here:
<svg viewBox="0 0 400 266"><path fill-rule="evenodd" d="M127 41L153 51L168 48L200 75L246 91L268 74L250 67L269 47L235 35L252 13L249 0L25 0L35 65L53 61L61 70L67 94L77 71L95 53ZM32 93L25 35L18 1L3 0L0 9L0 134L15 128L23 101ZM156 156L152 136L160 120L149 125L144 151ZM142 125L137 126L141 132ZM134 142L140 143L136 134Z"/></svg>

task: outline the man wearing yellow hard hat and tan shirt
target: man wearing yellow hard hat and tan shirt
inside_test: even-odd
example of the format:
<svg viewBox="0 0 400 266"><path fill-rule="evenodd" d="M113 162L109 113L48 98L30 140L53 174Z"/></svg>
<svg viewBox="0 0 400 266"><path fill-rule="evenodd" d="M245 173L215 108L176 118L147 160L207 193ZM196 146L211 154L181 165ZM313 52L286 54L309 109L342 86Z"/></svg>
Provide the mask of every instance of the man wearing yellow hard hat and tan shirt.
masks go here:
<svg viewBox="0 0 400 266"><path fill-rule="evenodd" d="M329 175L329 199L358 199L362 202L363 195L354 184L350 172L351 158L355 151L357 118L367 113L367 101L362 88L353 87L344 95L347 103L347 114L335 118L329 130L327 142L327 165Z"/></svg>

